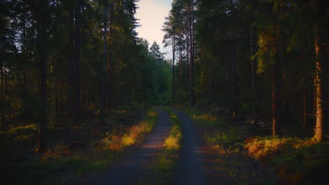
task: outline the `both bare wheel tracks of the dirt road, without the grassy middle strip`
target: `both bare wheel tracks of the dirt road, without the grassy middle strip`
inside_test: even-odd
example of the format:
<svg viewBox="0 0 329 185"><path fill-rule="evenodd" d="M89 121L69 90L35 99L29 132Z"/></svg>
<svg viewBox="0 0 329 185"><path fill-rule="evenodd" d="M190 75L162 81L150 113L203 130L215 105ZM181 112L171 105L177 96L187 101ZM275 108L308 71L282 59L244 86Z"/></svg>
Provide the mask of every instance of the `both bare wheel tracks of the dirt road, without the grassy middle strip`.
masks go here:
<svg viewBox="0 0 329 185"><path fill-rule="evenodd" d="M143 169L153 163L165 137L169 135L169 113L158 110L159 118L153 131L146 136L146 141L133 153L117 161L98 179L90 179L86 184L134 184L142 177ZM202 130L180 111L175 114L181 121L183 139L179 159L174 168L174 177L169 184L235 184L235 181L224 177L216 168L216 153L207 149L202 141ZM155 177L156 178L156 177Z"/></svg>

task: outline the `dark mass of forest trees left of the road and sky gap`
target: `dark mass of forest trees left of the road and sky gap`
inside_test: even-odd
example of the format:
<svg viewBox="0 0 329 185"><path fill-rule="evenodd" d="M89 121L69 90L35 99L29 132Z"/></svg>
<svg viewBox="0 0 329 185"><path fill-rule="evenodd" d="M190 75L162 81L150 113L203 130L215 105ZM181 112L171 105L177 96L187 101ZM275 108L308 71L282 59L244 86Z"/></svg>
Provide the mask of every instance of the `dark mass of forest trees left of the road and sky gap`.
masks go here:
<svg viewBox="0 0 329 185"><path fill-rule="evenodd" d="M136 1L1 1L0 116L49 120L167 100L169 66L136 37ZM100 106L101 105L101 106Z"/></svg>

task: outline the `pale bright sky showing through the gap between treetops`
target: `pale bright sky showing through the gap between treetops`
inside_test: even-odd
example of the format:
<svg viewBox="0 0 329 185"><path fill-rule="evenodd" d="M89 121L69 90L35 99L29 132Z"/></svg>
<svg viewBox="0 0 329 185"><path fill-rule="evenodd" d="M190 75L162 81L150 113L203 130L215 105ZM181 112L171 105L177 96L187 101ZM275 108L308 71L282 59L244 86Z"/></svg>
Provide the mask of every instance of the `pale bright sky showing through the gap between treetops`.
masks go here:
<svg viewBox="0 0 329 185"><path fill-rule="evenodd" d="M136 29L138 37L148 40L149 47L152 46L153 41L156 41L162 53L169 52L169 48L163 48L164 32L161 29L165 21L164 17L168 17L172 8L172 0L140 0L137 6L139 8L135 17L139 19L138 22L141 25Z"/></svg>

